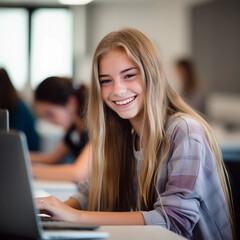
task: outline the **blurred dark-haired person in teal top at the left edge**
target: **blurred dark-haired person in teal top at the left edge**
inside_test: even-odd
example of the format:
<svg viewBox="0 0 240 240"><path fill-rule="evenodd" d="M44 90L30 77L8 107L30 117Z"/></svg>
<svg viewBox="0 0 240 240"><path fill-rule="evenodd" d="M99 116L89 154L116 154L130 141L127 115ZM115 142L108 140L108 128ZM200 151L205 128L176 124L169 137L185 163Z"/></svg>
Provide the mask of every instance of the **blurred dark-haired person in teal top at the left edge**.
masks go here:
<svg viewBox="0 0 240 240"><path fill-rule="evenodd" d="M40 138L35 127L35 117L20 98L4 68L0 68L0 108L9 111L10 129L25 133L29 150L38 151Z"/></svg>

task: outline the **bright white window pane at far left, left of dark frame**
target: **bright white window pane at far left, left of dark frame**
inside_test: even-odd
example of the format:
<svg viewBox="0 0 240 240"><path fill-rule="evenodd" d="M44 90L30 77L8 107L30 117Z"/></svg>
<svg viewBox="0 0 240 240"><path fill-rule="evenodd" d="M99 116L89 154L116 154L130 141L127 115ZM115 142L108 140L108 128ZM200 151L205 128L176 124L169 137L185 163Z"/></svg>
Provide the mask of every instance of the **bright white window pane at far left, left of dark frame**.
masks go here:
<svg viewBox="0 0 240 240"><path fill-rule="evenodd" d="M28 12L0 9L0 67L4 67L17 90L28 79Z"/></svg>

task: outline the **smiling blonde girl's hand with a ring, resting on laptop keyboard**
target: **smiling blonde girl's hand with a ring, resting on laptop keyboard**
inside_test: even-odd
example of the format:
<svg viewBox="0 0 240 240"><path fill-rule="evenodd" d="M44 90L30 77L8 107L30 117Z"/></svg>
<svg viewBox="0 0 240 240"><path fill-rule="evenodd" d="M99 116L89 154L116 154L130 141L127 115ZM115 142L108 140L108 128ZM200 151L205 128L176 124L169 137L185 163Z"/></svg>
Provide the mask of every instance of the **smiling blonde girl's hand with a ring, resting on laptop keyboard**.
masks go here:
<svg viewBox="0 0 240 240"><path fill-rule="evenodd" d="M54 196L36 198L37 208L40 213L50 215L52 220L77 221L77 210L69 207ZM80 212L78 210L78 212Z"/></svg>

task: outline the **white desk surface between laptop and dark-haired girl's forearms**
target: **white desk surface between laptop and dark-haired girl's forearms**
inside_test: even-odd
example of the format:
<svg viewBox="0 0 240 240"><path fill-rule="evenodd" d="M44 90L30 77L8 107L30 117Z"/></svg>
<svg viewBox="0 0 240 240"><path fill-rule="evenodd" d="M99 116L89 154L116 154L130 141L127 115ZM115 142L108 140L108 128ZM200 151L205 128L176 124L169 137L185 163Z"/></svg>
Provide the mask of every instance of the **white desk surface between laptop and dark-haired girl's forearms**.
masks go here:
<svg viewBox="0 0 240 240"><path fill-rule="evenodd" d="M35 197L54 195L61 201L66 201L77 192L77 184L66 181L34 180L33 189Z"/></svg>

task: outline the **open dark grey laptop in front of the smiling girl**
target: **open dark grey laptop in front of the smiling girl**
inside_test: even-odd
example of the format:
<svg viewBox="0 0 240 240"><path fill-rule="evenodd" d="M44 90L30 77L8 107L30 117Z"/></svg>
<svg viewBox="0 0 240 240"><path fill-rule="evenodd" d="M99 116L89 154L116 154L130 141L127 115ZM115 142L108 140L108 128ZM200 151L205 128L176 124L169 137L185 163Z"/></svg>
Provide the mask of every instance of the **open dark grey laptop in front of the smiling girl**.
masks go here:
<svg viewBox="0 0 240 240"><path fill-rule="evenodd" d="M99 239L107 232L98 226L71 222L42 224L35 206L26 137L0 131L0 239L2 236L32 239ZM45 229L43 228L45 226ZM4 238L5 239L5 238Z"/></svg>

